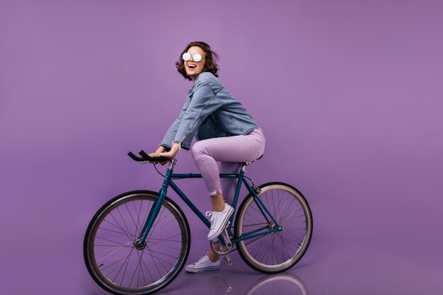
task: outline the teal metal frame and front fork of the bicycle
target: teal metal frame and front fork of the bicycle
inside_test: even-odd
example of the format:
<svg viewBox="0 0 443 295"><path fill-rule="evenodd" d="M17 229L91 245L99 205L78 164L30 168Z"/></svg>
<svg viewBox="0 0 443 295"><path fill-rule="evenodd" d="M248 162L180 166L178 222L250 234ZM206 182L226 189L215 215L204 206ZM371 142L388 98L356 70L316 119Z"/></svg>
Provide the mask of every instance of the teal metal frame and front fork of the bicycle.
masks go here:
<svg viewBox="0 0 443 295"><path fill-rule="evenodd" d="M161 206L163 205L163 200L166 197L166 192L168 191L168 187L171 186L172 189L177 193L177 195L183 199L183 201L185 202L185 204L188 205L188 207L190 207L190 209L192 210L192 212L194 212L198 218L200 218L200 220L208 227L211 227L210 222L206 219L205 215L202 214L202 212L200 212L199 209L197 209L197 207L195 207L195 204L192 203L190 201L190 199L188 197L186 197L185 193L182 192L180 190L180 188L176 185L176 183L173 182L173 178L180 178L180 179L185 179L185 178L202 178L201 174L198 173L173 173L173 167L176 164L176 159L174 158L173 161L171 161L171 163L168 166L168 170L166 170L166 176L163 180L163 185L159 191L159 198L157 199L157 201L154 203L154 205L151 207L149 214L146 218L146 221L144 223L144 226L142 228L142 231L140 232L139 235L139 242L142 244L146 243L146 237L149 234L149 231L151 230L152 225L154 224L154 221L157 217L157 215L160 212ZM269 210L267 209L267 207L265 206L265 204L263 204L262 200L260 199L260 197L258 196L257 192L255 192L255 190L258 190L258 192L260 192L260 190L258 189L258 187L255 187L254 183L251 186L248 181L245 179L244 174L245 174L245 168L246 166L248 166L249 163L245 163L240 172L236 173L236 174L220 174L220 178L238 178L238 183L236 186L236 192L234 195L234 201L232 204L232 207L234 208L234 213L231 214L231 218L229 219L230 224L229 224L229 228L228 228L228 234L229 236L233 236L232 232L231 232L231 227L234 221L234 215L235 215L235 211L236 211L236 207L237 207L237 202L238 202L238 196L240 195L240 190L241 190L241 184L243 183L243 185L246 186L246 189L248 190L248 192L251 193L251 195L254 196L254 202L257 204L258 208L260 209L260 212L263 214L263 216L265 217L267 224L263 227L260 227L260 229L255 229L254 231L250 231L248 233L243 233L241 236L239 237L234 237L231 239L232 243L237 243L239 241L243 241L249 238L255 238L258 236L263 236L267 233L273 233L275 231L282 231L282 226L280 226L280 224L277 223L277 221L275 220L275 217L272 216L272 214L269 212ZM271 222L275 225L272 226L272 228L269 226L269 224L271 224ZM223 242L223 239L221 238L221 236L219 236L220 241Z"/></svg>

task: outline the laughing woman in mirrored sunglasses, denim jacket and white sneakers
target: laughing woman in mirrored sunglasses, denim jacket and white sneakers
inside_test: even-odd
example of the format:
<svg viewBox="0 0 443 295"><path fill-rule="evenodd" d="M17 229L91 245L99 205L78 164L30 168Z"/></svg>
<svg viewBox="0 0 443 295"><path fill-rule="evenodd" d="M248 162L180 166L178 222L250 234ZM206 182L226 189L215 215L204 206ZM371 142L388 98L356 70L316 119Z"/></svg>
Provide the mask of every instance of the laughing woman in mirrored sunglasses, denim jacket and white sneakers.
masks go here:
<svg viewBox="0 0 443 295"><path fill-rule="evenodd" d="M235 180L221 182L219 173L238 173L242 163L260 158L265 151L263 131L216 78L218 66L214 57L217 54L205 42L190 42L185 47L176 66L194 85L159 148L149 154L172 160L180 148L190 149L195 136L197 142L192 146L192 157L212 202L212 212L207 212L212 224L207 236L209 241L217 241L234 211L224 202L224 197L234 197ZM217 161L221 162L220 168ZM188 272L219 268L219 255L212 249L185 267Z"/></svg>

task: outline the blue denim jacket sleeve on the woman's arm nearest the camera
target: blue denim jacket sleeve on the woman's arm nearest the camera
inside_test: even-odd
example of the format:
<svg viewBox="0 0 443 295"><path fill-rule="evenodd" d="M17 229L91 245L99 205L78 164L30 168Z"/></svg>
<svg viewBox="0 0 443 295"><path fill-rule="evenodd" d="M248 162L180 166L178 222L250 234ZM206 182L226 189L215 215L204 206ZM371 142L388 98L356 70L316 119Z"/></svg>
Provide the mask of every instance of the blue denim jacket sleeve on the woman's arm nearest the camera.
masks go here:
<svg viewBox="0 0 443 295"><path fill-rule="evenodd" d="M217 93L205 81L200 81L200 83L195 85L192 99L183 115L180 126L178 126L173 142L178 142L182 145L187 144L187 140L194 137L202 122L212 112L222 107L222 103L219 102L216 95Z"/></svg>

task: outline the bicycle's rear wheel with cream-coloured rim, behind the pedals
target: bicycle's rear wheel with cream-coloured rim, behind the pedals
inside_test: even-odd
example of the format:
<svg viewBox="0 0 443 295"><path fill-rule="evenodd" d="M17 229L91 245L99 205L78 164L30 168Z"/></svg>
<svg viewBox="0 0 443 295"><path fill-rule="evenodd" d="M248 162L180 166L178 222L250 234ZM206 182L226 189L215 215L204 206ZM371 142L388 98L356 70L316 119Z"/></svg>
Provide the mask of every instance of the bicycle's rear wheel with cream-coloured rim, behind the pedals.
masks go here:
<svg viewBox="0 0 443 295"><path fill-rule="evenodd" d="M238 241L236 246L243 261L254 270L283 272L293 267L309 247L313 229L311 209L301 192L287 183L265 183L260 190L258 196L283 230ZM249 194L238 208L234 237L263 226L271 229L272 222L265 219Z"/></svg>

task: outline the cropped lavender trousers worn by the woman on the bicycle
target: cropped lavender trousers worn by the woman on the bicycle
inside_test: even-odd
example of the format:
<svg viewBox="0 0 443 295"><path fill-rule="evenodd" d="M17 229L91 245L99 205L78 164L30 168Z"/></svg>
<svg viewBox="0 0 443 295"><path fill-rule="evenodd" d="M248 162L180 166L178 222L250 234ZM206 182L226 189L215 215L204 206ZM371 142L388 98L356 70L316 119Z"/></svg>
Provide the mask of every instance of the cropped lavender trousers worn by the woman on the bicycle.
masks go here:
<svg viewBox="0 0 443 295"><path fill-rule="evenodd" d="M219 173L238 173L243 163L260 158L265 151L265 134L262 129L255 128L246 135L205 139L197 141L191 151L209 195L223 192L226 202L231 203L237 180L220 180Z"/></svg>

